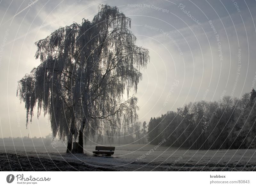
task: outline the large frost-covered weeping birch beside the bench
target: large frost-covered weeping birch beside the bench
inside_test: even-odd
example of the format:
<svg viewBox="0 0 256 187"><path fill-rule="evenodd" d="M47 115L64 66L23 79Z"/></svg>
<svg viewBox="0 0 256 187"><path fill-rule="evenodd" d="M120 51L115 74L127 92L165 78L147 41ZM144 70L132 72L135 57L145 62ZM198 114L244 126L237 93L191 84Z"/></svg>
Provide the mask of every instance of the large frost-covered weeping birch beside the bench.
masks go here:
<svg viewBox="0 0 256 187"><path fill-rule="evenodd" d="M26 125L37 106L37 117L41 111L49 116L53 136L68 139L67 152L78 139L79 153L83 137L111 137L121 125L128 127L138 109L129 92L136 93L140 70L149 61L130 27L131 19L117 7L100 5L92 21L60 27L36 42L41 64L19 81L17 90L25 102Z"/></svg>

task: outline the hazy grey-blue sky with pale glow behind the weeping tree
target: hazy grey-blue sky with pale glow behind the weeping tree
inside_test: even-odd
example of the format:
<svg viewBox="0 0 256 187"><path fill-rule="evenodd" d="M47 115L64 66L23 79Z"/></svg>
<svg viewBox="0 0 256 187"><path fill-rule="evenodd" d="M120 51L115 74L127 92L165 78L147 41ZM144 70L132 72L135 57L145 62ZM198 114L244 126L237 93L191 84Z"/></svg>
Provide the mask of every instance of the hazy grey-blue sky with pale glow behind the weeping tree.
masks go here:
<svg viewBox="0 0 256 187"><path fill-rule="evenodd" d="M137 92L139 121L148 123L190 101L250 92L256 75L255 1L0 0L0 137L51 132L47 118L36 115L26 129L17 81L40 63L34 58L36 41L73 21L92 20L99 4L118 6L130 17L137 45L150 52Z"/></svg>

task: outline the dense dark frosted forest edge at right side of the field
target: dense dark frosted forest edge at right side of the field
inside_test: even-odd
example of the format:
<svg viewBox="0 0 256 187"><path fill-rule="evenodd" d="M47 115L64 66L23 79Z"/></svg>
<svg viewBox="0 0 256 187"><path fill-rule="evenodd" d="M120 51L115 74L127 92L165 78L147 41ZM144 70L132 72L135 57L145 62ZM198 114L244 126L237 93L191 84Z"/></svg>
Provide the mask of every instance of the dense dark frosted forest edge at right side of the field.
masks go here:
<svg viewBox="0 0 256 187"><path fill-rule="evenodd" d="M256 148L256 91L241 99L222 96L220 101L190 102L148 123L148 141L190 149Z"/></svg>

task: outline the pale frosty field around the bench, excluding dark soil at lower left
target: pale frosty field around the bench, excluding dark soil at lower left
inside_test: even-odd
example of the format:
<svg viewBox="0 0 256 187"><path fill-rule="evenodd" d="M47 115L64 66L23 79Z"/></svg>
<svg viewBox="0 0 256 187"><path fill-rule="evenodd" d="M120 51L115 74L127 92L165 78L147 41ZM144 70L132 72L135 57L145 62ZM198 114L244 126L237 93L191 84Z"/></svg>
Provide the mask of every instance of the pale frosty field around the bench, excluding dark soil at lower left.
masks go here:
<svg viewBox="0 0 256 187"><path fill-rule="evenodd" d="M85 154L67 154L66 147L0 147L2 153L28 157L84 162L94 167L121 171L241 171L255 170L256 150L185 150L154 145L112 145L116 147L112 157L94 157L95 145L86 145Z"/></svg>

